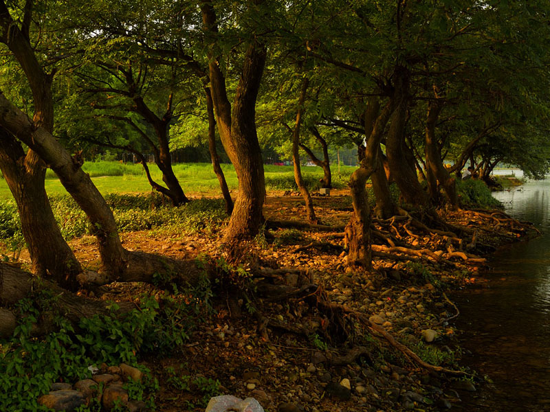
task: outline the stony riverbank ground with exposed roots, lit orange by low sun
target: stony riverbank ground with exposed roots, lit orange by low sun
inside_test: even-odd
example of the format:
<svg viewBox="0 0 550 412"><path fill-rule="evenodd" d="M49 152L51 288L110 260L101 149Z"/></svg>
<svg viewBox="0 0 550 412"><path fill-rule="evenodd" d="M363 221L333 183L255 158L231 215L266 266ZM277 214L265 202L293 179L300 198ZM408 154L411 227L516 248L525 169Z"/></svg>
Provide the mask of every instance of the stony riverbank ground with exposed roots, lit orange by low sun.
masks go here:
<svg viewBox="0 0 550 412"><path fill-rule="evenodd" d="M458 310L449 292L480 283L480 255L518 240L525 227L498 211L441 216L450 227L462 228L460 237L410 227L408 219L378 221L374 271L368 272L345 262L342 227L351 213L349 194L317 197L316 209L324 226L270 229L245 251L245 266L235 275L263 274L243 284L249 301L240 297L235 303L234 292L212 286L208 293L217 295L214 310L202 315L184 345L170 356L140 356L140 365L159 381L151 393L157 410L181 411L182 402L188 402L188 410L201 411L206 394L217 393L254 397L269 411L443 410L461 404L474 389L472 381L478 378L461 364L464 351L452 323ZM269 196L265 216L298 220L301 198ZM127 232L122 241L129 250L176 259L201 253L221 259L221 227L213 225L170 236L159 230ZM75 238L71 246L88 268L98 264L92 238ZM21 258L28 261L25 252ZM275 295L260 289L266 273L279 291ZM280 293L284 287L287 293ZM162 296L144 284L81 293L135 304ZM430 373L431 367L456 374Z"/></svg>

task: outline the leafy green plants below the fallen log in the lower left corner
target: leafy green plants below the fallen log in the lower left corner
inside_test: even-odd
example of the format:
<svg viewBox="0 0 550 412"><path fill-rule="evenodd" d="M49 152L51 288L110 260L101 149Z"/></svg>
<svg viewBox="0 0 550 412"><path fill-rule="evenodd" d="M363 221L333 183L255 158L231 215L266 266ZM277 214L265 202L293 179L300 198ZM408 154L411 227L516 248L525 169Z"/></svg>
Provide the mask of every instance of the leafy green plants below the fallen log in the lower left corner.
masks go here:
<svg viewBox="0 0 550 412"><path fill-rule="evenodd" d="M0 340L0 410L46 411L36 404L36 399L60 378L67 382L90 378L88 367L102 362L140 367L140 354L173 352L210 310L211 295L210 285L203 282L195 289L174 295L144 297L139 310L126 314L120 314L118 306L112 304L109 314L83 318L75 327L54 314L55 331L41 338L32 336L33 325L46 310L57 307L56 297L43 290L22 299L17 304L21 319L14 335ZM134 398L146 400L153 408L158 382L144 371L143 382L129 382L126 386ZM213 382L199 383L205 392L213 390ZM92 404L80 410L99 409Z"/></svg>

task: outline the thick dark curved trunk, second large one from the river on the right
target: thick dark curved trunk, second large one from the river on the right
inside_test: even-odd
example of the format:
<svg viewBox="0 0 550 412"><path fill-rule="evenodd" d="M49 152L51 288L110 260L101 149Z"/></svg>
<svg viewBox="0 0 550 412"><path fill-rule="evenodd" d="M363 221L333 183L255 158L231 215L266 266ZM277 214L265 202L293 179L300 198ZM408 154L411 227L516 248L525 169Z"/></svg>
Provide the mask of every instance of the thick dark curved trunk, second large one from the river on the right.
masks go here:
<svg viewBox="0 0 550 412"><path fill-rule="evenodd" d="M415 168L410 167L410 149L405 143L405 126L408 108L409 75L399 67L395 76L397 107L391 117L391 125L386 138L386 155L393 179L403 196L404 202L422 209L429 208L428 195L422 189Z"/></svg>

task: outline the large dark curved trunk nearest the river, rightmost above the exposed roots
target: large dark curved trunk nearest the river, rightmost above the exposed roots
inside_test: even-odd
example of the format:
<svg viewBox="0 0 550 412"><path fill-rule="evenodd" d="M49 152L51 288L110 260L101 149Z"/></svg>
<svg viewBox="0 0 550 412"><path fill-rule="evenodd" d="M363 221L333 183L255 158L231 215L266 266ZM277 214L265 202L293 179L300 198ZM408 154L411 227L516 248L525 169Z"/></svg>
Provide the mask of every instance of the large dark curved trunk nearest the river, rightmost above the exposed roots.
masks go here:
<svg viewBox="0 0 550 412"><path fill-rule="evenodd" d="M439 181L439 184L445 191L445 196L447 196L449 205L453 210L456 210L459 207L459 196L456 193L456 183L447 168L445 168L445 165L443 165L443 160L441 160L441 155L437 147L437 140L435 139L437 118L442 108L443 103L441 102L430 102L428 104L428 119L426 120L426 171L429 171L432 176L437 178L437 181ZM439 196L437 188L435 191Z"/></svg>

